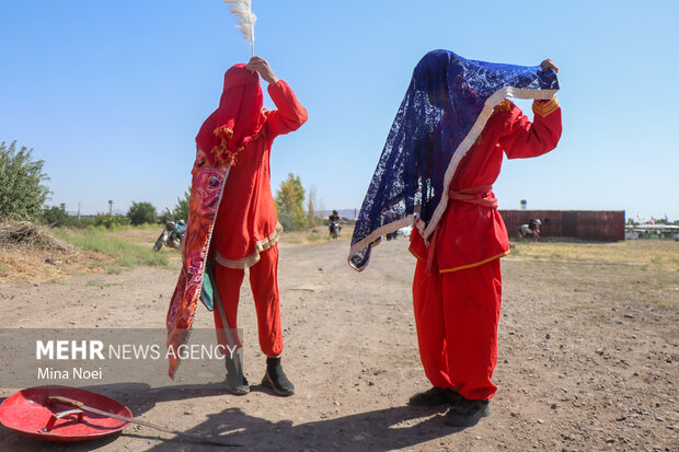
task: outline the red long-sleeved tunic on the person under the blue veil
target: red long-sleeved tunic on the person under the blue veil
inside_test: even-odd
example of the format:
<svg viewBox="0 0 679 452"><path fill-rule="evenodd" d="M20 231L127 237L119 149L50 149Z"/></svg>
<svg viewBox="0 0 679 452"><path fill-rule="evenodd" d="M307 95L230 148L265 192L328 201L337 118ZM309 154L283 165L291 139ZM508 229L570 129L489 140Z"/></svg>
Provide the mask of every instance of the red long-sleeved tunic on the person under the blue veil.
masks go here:
<svg viewBox="0 0 679 452"><path fill-rule="evenodd" d="M533 112L531 123L511 102L497 105L460 162L451 188L459 192L492 185L499 175L503 152L509 159L526 159L554 149L562 128L559 102L555 97L536 101ZM450 200L438 229L435 258L441 273L474 267L509 254L507 229L497 209ZM410 250L417 258L428 257L428 246L417 228L411 234Z"/></svg>

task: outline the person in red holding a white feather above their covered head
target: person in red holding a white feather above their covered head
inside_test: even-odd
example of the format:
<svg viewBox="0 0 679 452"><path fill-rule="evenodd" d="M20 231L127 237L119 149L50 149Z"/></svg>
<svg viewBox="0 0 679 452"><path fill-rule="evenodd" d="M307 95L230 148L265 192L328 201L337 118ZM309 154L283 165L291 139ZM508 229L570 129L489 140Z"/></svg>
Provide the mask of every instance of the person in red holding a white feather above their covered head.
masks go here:
<svg viewBox="0 0 679 452"><path fill-rule="evenodd" d="M268 82L268 94L278 109L262 108L260 77ZM294 394L295 386L280 363L277 241L283 228L272 196L269 155L277 136L297 130L306 120L307 109L265 59L252 57L226 72L219 107L196 137L184 267L168 312L169 345L185 343L183 332L193 323L207 259L205 268L217 289L218 340L225 346L240 345L239 339L225 337L225 332L229 335L229 328L238 328L240 288L249 268L260 347L267 357L262 384L284 396ZM176 366L171 361L171 375ZM227 390L240 395L250 391L240 360L227 359Z"/></svg>

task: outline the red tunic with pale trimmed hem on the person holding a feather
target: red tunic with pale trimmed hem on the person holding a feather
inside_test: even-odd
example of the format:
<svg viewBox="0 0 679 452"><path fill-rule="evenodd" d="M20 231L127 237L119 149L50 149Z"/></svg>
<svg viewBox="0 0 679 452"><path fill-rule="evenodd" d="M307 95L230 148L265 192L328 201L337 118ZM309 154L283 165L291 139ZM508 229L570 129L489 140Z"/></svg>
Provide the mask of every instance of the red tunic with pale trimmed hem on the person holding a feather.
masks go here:
<svg viewBox="0 0 679 452"><path fill-rule="evenodd" d="M238 163L229 170L215 222L217 260L230 268L257 263L260 252L276 243L283 232L272 196L272 143L277 136L297 130L308 115L285 81L269 84L268 94L278 109L266 112L261 135L239 153Z"/></svg>

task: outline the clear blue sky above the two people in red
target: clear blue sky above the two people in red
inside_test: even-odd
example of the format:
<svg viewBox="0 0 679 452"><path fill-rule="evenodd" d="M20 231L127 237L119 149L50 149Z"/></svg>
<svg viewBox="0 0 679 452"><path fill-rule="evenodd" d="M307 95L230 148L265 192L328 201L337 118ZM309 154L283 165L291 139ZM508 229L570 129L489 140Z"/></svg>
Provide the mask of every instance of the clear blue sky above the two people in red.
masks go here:
<svg viewBox="0 0 679 452"><path fill-rule="evenodd" d="M359 208L413 67L447 48L517 65L551 57L561 69L561 143L505 162L502 209L527 199L529 209L679 219L676 0L253 0L253 10L255 53L310 114L274 143L274 188L295 173L325 209ZM50 204L173 207L223 71L250 57L228 7L16 0L0 3L0 141L45 161Z"/></svg>

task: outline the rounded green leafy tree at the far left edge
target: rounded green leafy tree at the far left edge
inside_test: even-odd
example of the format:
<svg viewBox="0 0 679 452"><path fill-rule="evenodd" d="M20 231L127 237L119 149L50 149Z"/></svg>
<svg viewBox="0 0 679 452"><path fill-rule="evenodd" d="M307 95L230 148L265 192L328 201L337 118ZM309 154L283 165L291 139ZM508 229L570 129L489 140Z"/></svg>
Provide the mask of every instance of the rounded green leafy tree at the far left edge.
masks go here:
<svg viewBox="0 0 679 452"><path fill-rule="evenodd" d="M33 149L16 141L0 143L0 220L31 218L39 215L50 194L43 185L49 177L43 173L43 160L33 160Z"/></svg>

